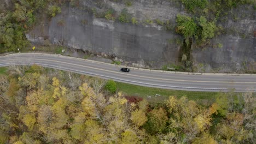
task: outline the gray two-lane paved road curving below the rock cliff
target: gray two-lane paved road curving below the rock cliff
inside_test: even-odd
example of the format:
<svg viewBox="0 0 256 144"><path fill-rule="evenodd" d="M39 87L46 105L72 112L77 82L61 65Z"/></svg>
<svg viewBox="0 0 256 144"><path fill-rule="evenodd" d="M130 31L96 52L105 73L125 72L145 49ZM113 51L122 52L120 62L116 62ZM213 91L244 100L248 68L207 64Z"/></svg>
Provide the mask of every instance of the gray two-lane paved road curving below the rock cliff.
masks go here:
<svg viewBox="0 0 256 144"><path fill-rule="evenodd" d="M120 67L115 65L60 55L20 53L0 56L0 67L32 64L148 87L185 91L216 92L235 89L236 92L256 92L256 75L186 75L137 69L131 69L130 73L124 73L120 72Z"/></svg>

